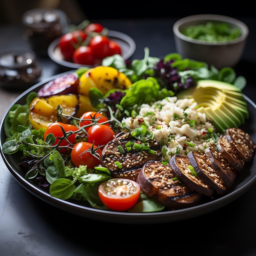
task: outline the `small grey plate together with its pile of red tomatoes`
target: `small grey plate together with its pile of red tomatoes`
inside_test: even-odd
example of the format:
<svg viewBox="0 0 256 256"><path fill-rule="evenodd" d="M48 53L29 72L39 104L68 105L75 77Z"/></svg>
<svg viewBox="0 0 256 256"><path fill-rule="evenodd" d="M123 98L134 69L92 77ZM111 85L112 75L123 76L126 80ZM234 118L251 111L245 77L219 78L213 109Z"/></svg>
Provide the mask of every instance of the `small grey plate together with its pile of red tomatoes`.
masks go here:
<svg viewBox="0 0 256 256"><path fill-rule="evenodd" d="M48 55L66 67L94 67L101 65L103 58L115 54L128 59L135 49L135 41L130 36L90 23L84 29L75 29L54 40L48 47Z"/></svg>

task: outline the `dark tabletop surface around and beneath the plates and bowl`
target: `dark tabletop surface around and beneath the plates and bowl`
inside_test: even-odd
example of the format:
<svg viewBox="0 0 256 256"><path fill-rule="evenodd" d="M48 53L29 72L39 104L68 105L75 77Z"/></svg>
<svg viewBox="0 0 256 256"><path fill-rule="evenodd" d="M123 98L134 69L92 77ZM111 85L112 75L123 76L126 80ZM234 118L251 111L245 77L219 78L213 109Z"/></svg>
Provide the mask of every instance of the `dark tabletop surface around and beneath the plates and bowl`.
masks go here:
<svg viewBox="0 0 256 256"><path fill-rule="evenodd" d="M250 30L243 58L234 67L247 79L244 94L256 102L256 18L237 17ZM132 58L175 52L177 19L97 20L136 42ZM93 22L93 20L92 20ZM0 49L25 46L23 28L0 25ZM47 56L38 58L40 81L70 70ZM22 91L0 88L0 117ZM0 157L0 255L256 255L256 186L229 204L176 222L121 224L76 216L32 195L11 175Z"/></svg>

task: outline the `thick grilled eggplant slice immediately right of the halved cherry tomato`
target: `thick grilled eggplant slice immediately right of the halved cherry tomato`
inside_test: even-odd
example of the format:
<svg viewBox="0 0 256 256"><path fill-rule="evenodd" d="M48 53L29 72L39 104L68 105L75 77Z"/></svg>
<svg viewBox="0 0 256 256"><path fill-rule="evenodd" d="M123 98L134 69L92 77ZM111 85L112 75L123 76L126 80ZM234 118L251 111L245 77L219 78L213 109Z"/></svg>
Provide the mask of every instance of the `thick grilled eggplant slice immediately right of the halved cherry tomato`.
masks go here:
<svg viewBox="0 0 256 256"><path fill-rule="evenodd" d="M171 210L197 205L202 197L201 193L177 179L169 164L161 161L151 160L144 164L137 182L146 195L156 198Z"/></svg>

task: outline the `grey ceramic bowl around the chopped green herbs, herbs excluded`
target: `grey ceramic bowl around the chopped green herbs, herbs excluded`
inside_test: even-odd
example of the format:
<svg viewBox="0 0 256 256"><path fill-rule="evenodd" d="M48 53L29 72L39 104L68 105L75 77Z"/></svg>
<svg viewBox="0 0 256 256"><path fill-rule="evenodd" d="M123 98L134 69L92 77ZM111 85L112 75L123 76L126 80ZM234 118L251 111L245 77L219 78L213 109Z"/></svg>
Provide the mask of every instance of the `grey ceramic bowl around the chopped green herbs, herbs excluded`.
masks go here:
<svg viewBox="0 0 256 256"><path fill-rule="evenodd" d="M241 36L227 42L209 42L185 36L181 33L187 26L206 24L207 22L227 22L231 28L238 27ZM228 16L215 14L198 14L177 20L173 25L176 51L183 58L204 61L216 68L234 67L241 59L249 29L245 23Z"/></svg>

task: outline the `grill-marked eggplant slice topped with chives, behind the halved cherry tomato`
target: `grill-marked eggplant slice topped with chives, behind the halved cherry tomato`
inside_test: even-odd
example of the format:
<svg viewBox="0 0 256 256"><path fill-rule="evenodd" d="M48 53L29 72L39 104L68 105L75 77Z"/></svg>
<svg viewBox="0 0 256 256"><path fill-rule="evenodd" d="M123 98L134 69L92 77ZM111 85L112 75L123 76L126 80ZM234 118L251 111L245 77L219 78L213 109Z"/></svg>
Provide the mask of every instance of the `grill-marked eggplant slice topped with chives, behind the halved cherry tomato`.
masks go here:
<svg viewBox="0 0 256 256"><path fill-rule="evenodd" d="M121 132L110 141L102 150L101 165L108 168L111 175L116 178L137 179L142 166L149 160L161 160L161 145L154 139L146 141L150 150L135 149L127 145L140 143L138 139L131 135L131 132Z"/></svg>

